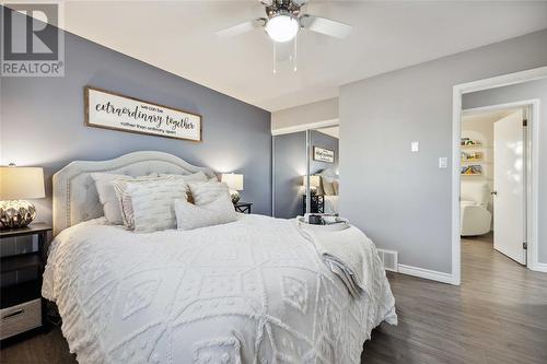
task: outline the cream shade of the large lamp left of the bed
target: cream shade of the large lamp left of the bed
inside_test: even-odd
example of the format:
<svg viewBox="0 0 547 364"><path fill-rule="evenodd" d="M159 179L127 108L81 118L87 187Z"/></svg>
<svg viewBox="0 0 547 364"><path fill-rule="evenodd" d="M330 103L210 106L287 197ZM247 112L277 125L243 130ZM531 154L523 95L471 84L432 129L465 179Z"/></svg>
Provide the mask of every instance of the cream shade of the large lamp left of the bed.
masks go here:
<svg viewBox="0 0 547 364"><path fill-rule="evenodd" d="M0 167L0 200L46 197L44 169L40 167Z"/></svg>

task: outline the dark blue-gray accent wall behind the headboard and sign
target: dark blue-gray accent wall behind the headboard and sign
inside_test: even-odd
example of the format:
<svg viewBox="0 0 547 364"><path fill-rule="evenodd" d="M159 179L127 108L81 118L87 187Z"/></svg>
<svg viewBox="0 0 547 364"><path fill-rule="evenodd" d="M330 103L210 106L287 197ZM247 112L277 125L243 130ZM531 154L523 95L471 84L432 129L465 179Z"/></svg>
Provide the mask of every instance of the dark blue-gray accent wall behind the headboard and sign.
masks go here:
<svg viewBox="0 0 547 364"><path fill-rule="evenodd" d="M133 151L175 154L217 172L244 174L242 200L271 213L270 113L66 33L62 78L2 78L0 163L43 166L47 199L37 221L51 221L51 175L74 160ZM165 55L168 57L168 52ZM202 116L202 142L84 126L83 87L92 85Z"/></svg>

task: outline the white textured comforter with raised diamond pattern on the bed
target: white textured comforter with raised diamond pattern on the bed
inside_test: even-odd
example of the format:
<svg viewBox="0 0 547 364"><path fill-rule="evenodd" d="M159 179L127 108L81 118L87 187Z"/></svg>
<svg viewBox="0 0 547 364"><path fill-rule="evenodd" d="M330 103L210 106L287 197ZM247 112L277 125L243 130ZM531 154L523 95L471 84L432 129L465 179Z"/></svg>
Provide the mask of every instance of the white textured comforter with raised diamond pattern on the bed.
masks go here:
<svg viewBox="0 0 547 364"><path fill-rule="evenodd" d="M354 300L292 221L152 234L92 221L54 240L43 294L80 363L359 363L371 330L397 320L371 261Z"/></svg>

